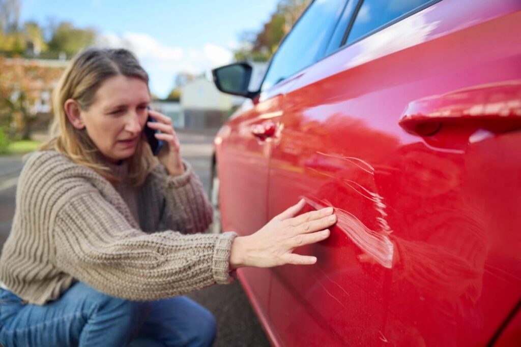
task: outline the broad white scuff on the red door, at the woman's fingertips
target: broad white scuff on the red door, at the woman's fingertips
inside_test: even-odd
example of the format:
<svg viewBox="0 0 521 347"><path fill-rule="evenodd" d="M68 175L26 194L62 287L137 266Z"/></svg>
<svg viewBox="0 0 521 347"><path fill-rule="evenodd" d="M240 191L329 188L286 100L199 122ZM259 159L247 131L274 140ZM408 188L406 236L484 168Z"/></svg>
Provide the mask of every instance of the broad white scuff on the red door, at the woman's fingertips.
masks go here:
<svg viewBox="0 0 521 347"><path fill-rule="evenodd" d="M313 208L319 210L331 206L327 201L314 201L311 197L303 197ZM352 213L335 208L337 226L355 245L370 255L377 263L386 268L392 268L394 245L387 233L378 233L369 229Z"/></svg>

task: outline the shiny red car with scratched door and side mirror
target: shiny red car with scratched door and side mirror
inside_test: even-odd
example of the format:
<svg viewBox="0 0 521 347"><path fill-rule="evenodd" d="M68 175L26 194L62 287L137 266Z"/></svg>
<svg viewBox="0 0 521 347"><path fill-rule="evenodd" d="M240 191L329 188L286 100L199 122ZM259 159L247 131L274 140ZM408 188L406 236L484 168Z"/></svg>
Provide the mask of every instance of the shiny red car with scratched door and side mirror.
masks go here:
<svg viewBox="0 0 521 347"><path fill-rule="evenodd" d="M521 1L316 0L251 75L214 70L249 98L215 138L222 228L338 215L315 265L239 271L272 344L521 345Z"/></svg>

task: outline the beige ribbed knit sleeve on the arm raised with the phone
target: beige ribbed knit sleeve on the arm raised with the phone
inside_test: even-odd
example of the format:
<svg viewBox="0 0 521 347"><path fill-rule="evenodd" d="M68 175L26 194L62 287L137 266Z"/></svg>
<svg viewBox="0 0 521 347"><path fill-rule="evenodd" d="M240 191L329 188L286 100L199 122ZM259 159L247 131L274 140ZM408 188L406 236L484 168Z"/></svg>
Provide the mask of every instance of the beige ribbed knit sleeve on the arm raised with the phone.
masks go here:
<svg viewBox="0 0 521 347"><path fill-rule="evenodd" d="M182 230L183 233L203 233L212 223L212 204L192 166L184 161L185 172L179 176L168 174L163 165L154 171L160 194L163 195L159 229Z"/></svg>

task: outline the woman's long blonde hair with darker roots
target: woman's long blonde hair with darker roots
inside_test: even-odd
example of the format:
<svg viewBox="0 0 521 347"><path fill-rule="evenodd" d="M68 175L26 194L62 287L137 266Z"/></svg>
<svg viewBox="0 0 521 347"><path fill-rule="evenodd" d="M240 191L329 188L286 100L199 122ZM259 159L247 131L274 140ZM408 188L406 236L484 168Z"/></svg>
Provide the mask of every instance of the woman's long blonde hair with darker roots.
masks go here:
<svg viewBox="0 0 521 347"><path fill-rule="evenodd" d="M74 99L80 109L87 110L101 84L115 75L139 78L148 86L148 74L126 49L89 48L73 58L53 91L51 139L38 148L40 151L54 149L73 162L88 166L111 183L120 180L103 164L101 152L85 128L79 130L70 123L64 104L67 99ZM150 146L141 138L129 158L129 183L134 187L141 186L157 163Z"/></svg>

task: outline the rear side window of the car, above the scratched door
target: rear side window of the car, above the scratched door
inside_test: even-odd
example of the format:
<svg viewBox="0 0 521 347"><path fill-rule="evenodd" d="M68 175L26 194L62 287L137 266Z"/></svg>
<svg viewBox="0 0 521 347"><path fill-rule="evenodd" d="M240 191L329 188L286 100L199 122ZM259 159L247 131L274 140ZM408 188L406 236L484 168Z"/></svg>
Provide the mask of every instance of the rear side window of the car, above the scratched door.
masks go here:
<svg viewBox="0 0 521 347"><path fill-rule="evenodd" d="M432 0L364 0L346 44L429 2Z"/></svg>

